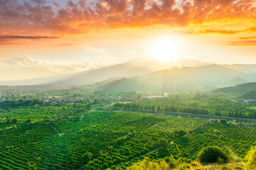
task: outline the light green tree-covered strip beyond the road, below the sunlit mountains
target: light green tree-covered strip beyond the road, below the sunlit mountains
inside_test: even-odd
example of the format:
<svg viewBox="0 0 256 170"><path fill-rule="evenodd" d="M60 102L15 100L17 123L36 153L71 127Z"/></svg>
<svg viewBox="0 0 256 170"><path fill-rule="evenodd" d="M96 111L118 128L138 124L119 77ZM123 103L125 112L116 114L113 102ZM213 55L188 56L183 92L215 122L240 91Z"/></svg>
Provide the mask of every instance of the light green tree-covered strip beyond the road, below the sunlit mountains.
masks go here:
<svg viewBox="0 0 256 170"><path fill-rule="evenodd" d="M113 109L146 113L191 113L256 119L255 102L234 101L238 96L225 94L196 94L144 99L132 103L114 103ZM157 108L157 109L156 109Z"/></svg>

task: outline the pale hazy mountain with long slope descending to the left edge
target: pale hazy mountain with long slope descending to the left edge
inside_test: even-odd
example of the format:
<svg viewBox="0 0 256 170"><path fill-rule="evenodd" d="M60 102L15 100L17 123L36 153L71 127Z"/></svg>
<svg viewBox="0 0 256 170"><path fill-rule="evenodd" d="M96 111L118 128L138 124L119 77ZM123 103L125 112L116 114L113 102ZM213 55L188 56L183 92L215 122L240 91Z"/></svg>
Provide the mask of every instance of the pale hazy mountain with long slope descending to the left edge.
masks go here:
<svg viewBox="0 0 256 170"><path fill-rule="evenodd" d="M105 81L112 77L132 77L148 74L149 72L151 72L151 69L148 69L145 65L138 66L133 62L126 62L74 74L16 81L0 81L0 85L83 85Z"/></svg>

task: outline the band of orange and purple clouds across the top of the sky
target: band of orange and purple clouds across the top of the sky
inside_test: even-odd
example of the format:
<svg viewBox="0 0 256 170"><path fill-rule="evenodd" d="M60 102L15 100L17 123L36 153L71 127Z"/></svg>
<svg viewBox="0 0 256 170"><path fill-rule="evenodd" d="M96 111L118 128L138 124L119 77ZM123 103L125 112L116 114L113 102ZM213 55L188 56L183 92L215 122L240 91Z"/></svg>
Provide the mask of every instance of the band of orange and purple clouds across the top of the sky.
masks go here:
<svg viewBox="0 0 256 170"><path fill-rule="evenodd" d="M95 30L156 25L198 29L204 23L223 21L221 29L202 28L197 33L255 32L255 0L49 0L0 1L0 35L73 35ZM250 21L242 29L236 19ZM239 27L240 30L236 30Z"/></svg>

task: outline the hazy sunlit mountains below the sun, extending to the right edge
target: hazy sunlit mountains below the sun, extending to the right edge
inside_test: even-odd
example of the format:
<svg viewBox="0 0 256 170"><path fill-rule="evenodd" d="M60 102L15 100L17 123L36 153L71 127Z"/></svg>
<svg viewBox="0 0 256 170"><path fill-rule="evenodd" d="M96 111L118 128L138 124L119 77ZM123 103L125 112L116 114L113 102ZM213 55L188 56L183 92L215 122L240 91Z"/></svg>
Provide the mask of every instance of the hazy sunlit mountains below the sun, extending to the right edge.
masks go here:
<svg viewBox="0 0 256 170"><path fill-rule="evenodd" d="M119 91L210 90L210 87L216 89L223 86L234 86L240 82L247 82L246 80L256 81L255 75L256 64L173 67L147 74L145 77L112 81L102 86L102 89Z"/></svg>

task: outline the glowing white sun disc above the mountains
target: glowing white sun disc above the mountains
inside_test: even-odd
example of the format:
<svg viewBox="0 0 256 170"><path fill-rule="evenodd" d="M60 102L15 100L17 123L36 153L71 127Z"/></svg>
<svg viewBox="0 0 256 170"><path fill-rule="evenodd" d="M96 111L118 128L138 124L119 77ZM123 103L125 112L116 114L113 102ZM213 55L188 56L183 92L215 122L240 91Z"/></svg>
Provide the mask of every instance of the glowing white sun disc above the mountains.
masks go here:
<svg viewBox="0 0 256 170"><path fill-rule="evenodd" d="M171 38L155 40L149 54L152 58L161 62L174 61L178 57L176 42Z"/></svg>

